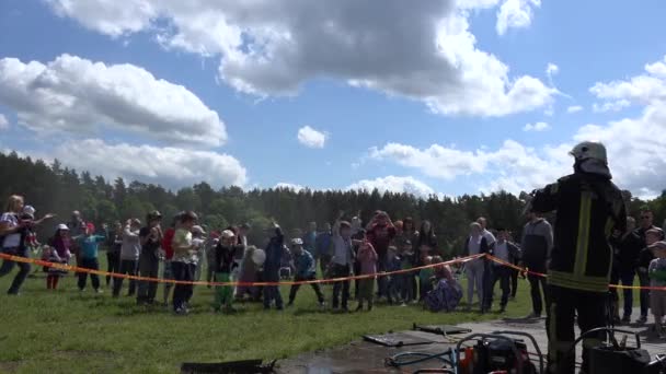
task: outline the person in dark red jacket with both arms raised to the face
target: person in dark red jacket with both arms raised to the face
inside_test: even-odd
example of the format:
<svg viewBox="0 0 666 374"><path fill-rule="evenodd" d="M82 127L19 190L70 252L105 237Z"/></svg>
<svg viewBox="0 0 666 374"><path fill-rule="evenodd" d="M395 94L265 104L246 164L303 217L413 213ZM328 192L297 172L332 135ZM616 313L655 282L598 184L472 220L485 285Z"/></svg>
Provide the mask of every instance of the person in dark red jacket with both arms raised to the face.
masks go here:
<svg viewBox="0 0 666 374"><path fill-rule="evenodd" d="M377 272L387 271L388 252L391 241L395 236L395 226L391 222L391 218L384 211L377 211L372 220L367 226L367 237L375 252L377 252ZM387 277L377 277L378 296L380 299L388 296L388 279Z"/></svg>

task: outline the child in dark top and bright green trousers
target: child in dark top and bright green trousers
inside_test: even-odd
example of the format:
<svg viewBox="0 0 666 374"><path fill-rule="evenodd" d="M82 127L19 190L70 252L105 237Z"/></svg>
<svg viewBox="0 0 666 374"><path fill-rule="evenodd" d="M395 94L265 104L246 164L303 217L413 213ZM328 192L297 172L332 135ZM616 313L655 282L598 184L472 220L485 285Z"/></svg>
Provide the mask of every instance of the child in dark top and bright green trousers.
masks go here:
<svg viewBox="0 0 666 374"><path fill-rule="evenodd" d="M236 243L236 234L231 230L222 231L222 239L215 247L214 270L216 282L226 283L231 281L231 271L236 267L236 262L233 261L236 252L242 249ZM216 285L215 302L213 303L215 312L220 312L222 305L226 312L236 312L233 306L231 306L232 302L233 287Z"/></svg>

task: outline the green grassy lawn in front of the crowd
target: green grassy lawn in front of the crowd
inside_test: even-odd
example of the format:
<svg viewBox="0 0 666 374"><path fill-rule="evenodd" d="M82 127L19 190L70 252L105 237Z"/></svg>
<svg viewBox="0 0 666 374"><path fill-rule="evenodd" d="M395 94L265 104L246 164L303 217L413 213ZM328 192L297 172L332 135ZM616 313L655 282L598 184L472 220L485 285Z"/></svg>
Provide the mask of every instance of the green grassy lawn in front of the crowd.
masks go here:
<svg viewBox="0 0 666 374"><path fill-rule="evenodd" d="M195 288L193 313L176 317L164 307L138 307L134 299L114 300L107 289L94 294L90 284L80 293L72 274L60 280L59 291L48 292L45 274L38 272L38 278L26 280L20 296L8 296L5 290L15 271L0 279L3 373L177 373L182 362L284 359L347 343L363 334L410 329L413 323L502 317L388 305L378 305L370 313L332 314L319 311L309 288L302 288L295 306L284 313L244 304L237 305L240 312L236 315L215 315L209 307L213 292L205 287ZM286 297L288 289L282 291ZM510 302L506 316L529 313L527 291L528 283L520 281L519 297ZM324 292L330 297L331 288ZM160 285L159 297L161 293Z"/></svg>

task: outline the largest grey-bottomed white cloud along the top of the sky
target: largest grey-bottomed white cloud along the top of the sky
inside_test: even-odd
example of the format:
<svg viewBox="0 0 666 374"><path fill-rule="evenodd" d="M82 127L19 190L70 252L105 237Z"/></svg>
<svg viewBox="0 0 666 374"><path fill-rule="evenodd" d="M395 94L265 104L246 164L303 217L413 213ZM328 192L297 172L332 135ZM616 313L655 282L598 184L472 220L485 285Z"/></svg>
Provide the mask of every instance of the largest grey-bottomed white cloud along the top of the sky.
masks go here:
<svg viewBox="0 0 666 374"><path fill-rule="evenodd" d="M112 37L148 32L168 49L219 57L219 77L259 96L294 95L324 77L417 100L443 115L504 116L547 106L556 94L533 77L509 75L508 66L476 47L468 17L498 0L48 3ZM498 24L526 27L539 4L506 0Z"/></svg>

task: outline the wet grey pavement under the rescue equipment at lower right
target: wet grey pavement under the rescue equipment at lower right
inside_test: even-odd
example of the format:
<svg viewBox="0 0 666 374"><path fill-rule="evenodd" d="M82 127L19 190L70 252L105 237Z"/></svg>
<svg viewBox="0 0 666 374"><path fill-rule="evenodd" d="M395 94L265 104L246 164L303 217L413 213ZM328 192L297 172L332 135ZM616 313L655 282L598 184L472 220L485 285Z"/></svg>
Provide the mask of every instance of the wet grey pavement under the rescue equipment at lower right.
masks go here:
<svg viewBox="0 0 666 374"><path fill-rule="evenodd" d="M653 322L650 320L648 324ZM469 328L471 334L491 334L498 330L513 330L530 334L535 337L540 350L546 354L548 350L548 338L546 335L544 319L502 319L486 323L460 324L459 327ZM666 340L657 339L650 331L652 325L618 326L617 328L636 332L641 337L642 348L647 350L651 357L657 353L666 353ZM377 343L358 341L318 352L302 353L298 357L280 361L277 373L303 373L303 374L330 374L330 373L413 373L420 369L441 367L441 363L429 361L421 364L394 369L387 366L387 358L402 352L441 353L455 347L458 339L466 338L471 334L451 335L449 337L438 336L423 331L401 331L394 336L395 340L410 340L412 342L429 342L427 344L410 346L402 348L383 347ZM620 340L622 335L618 335ZM474 341L470 341L472 346ZM634 346L633 337L629 337L628 346ZM530 352L535 352L528 343ZM579 357L581 349L577 353ZM538 360L538 359L537 359ZM579 360L579 359L578 359ZM538 364L537 364L538 367Z"/></svg>

